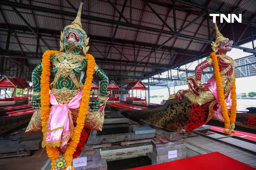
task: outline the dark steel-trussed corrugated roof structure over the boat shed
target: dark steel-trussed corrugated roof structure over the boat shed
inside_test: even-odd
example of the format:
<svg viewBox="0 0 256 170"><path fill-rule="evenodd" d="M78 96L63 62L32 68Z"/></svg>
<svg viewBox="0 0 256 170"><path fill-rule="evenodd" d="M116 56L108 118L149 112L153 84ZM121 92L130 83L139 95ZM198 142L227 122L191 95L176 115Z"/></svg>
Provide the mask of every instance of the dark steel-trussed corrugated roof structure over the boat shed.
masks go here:
<svg viewBox="0 0 256 170"><path fill-rule="evenodd" d="M242 23L217 21L219 29L234 40L234 48L256 53L255 44L252 48L240 46L256 37L253 3L256 2L245 5L243 0L232 4L213 0L97 0L85 5L81 18L90 37L89 53L110 79L150 79L151 87L171 87L184 84L193 70L185 69L184 75L161 79L154 75L181 70L180 66L209 55L215 36L209 13L242 13ZM27 72L31 72L45 50L59 50L60 30L72 20L69 17L76 16L76 5L78 2L68 0L0 1L0 74L17 71L4 67L2 63L7 58L19 59L16 62L22 67L18 72L23 68L30 68ZM246 62L248 65L238 70L241 76L254 74L251 59ZM27 79L30 80L29 74ZM168 81L175 83L165 83Z"/></svg>

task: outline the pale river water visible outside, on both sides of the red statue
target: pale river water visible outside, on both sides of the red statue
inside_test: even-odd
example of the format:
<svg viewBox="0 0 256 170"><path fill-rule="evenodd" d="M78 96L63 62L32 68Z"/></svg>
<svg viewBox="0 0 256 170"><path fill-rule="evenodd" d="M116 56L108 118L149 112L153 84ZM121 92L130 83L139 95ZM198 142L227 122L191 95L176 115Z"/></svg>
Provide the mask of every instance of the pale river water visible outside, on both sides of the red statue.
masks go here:
<svg viewBox="0 0 256 170"><path fill-rule="evenodd" d="M166 98L150 98L150 103L160 104ZM247 107L256 107L256 99L237 99L237 110L248 111Z"/></svg>

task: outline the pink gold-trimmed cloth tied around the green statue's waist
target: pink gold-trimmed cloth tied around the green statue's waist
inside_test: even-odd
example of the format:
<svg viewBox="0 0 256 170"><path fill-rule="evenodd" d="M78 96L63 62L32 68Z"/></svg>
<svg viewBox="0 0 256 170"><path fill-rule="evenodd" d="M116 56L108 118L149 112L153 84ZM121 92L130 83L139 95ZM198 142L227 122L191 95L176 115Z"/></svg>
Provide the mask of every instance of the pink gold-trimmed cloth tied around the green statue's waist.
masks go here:
<svg viewBox="0 0 256 170"><path fill-rule="evenodd" d="M83 90L79 92L68 104L60 104L55 96L50 92L50 115L48 119L46 145L47 143L58 143L61 148L73 137L74 123L70 115L70 109L80 107ZM70 129L71 128L71 129Z"/></svg>

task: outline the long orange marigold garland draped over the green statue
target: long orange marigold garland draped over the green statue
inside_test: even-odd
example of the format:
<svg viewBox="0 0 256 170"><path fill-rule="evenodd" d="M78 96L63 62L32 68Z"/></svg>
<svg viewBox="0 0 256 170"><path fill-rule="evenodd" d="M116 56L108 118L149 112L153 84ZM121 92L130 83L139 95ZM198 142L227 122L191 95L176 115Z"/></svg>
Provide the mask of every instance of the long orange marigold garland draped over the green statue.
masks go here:
<svg viewBox="0 0 256 170"><path fill-rule="evenodd" d="M42 74L41 74L41 119L42 119L42 131L44 133L46 123L50 114L50 99L49 99L49 83L50 83L50 56L59 53L59 51L45 51L42 58ZM73 157L76 147L78 145L81 131L84 127L84 120L86 118L87 109L89 106L90 100L90 90L91 82L93 80L95 60L94 57L90 54L85 56L88 59L87 71L86 71L86 80L83 87L82 102L80 104L78 118L76 120L76 127L74 129L73 135L74 139L69 143L68 148L64 154L63 159L65 159L65 168L71 167ZM46 135L44 133L44 135ZM59 151L57 147L46 147L47 154L49 158L52 159L52 169L54 169L56 160L59 158ZM74 166L71 167L74 170Z"/></svg>

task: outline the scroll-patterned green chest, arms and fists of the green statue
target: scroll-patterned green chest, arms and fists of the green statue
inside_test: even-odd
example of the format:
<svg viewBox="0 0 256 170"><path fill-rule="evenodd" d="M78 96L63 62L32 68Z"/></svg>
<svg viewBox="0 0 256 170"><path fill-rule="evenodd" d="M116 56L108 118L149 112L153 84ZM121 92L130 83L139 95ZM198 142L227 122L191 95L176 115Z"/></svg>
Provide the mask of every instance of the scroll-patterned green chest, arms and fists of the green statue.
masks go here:
<svg viewBox="0 0 256 170"><path fill-rule="evenodd" d="M86 70L87 59L82 55L71 55L60 52L59 54L52 55L50 61L54 73L53 88L62 89L65 87L69 90L78 90L79 85L77 82L79 82L80 74ZM42 66L40 63L33 71L34 92L41 91L41 72ZM106 76L105 72L98 66L95 67L94 74L95 77L99 79L99 96L105 97L108 88L108 77ZM73 77L73 80L74 78L76 79L74 82L72 81L71 76ZM82 88L80 87L80 89ZM102 102L99 100L94 100L90 100L91 110L97 111ZM40 107L40 96L33 96L32 101L33 108Z"/></svg>

